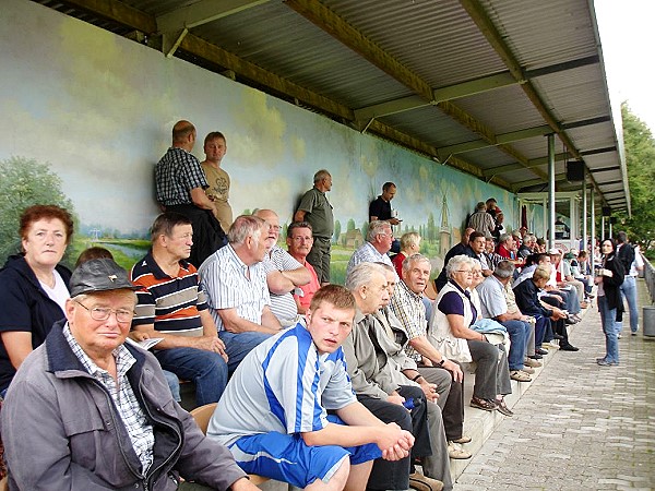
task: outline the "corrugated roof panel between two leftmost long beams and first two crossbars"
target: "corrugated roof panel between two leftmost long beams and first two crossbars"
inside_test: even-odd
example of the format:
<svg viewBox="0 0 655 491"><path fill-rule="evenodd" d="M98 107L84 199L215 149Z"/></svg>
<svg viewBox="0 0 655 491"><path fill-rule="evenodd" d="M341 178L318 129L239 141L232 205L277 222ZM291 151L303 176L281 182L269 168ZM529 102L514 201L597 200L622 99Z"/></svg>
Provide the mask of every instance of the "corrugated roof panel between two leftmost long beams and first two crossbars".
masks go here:
<svg viewBox="0 0 655 491"><path fill-rule="evenodd" d="M283 3L248 9L193 32L258 67L352 108L410 95L407 87Z"/></svg>

